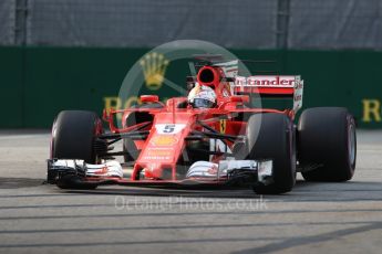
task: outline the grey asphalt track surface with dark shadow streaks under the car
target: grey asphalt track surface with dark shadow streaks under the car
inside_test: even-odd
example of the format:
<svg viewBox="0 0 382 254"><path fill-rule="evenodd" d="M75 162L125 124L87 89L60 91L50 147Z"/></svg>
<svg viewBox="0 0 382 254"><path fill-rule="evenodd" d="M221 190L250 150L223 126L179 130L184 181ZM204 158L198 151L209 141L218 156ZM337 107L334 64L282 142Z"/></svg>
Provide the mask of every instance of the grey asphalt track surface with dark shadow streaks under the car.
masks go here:
<svg viewBox="0 0 382 254"><path fill-rule="evenodd" d="M41 184L48 131L0 131L0 253L381 253L382 131L354 178L292 192Z"/></svg>

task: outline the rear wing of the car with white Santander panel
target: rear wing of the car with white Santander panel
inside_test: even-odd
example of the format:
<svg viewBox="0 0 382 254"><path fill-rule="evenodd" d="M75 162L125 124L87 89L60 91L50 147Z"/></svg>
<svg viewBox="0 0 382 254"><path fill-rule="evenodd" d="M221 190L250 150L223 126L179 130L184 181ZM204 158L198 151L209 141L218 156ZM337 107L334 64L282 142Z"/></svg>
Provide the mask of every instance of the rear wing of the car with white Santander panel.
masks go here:
<svg viewBox="0 0 382 254"><path fill-rule="evenodd" d="M234 94L259 94L264 97L293 98L295 113L302 107L303 81L301 76L236 76Z"/></svg>

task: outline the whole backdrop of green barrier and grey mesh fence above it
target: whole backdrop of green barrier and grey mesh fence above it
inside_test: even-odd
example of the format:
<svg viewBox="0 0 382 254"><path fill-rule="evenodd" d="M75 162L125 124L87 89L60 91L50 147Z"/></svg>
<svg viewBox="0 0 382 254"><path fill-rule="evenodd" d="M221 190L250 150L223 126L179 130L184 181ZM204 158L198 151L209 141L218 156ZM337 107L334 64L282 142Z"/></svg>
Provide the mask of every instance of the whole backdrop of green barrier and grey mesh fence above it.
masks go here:
<svg viewBox="0 0 382 254"><path fill-rule="evenodd" d="M380 128L381 12L380 0L1 0L0 127L124 107L116 97L130 67L158 44L192 39L276 60L278 74L302 75L304 107L345 106L360 127ZM165 77L184 86L188 74L171 62Z"/></svg>

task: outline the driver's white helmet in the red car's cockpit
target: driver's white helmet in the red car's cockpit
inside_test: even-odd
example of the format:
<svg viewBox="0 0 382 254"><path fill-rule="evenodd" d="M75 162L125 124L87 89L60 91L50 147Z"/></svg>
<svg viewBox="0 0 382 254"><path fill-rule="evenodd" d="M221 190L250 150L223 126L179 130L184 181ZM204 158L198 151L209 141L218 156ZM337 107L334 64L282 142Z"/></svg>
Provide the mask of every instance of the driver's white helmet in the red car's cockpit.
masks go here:
<svg viewBox="0 0 382 254"><path fill-rule="evenodd" d="M196 83L188 94L188 103L194 108L211 108L216 105L216 94L213 88Z"/></svg>

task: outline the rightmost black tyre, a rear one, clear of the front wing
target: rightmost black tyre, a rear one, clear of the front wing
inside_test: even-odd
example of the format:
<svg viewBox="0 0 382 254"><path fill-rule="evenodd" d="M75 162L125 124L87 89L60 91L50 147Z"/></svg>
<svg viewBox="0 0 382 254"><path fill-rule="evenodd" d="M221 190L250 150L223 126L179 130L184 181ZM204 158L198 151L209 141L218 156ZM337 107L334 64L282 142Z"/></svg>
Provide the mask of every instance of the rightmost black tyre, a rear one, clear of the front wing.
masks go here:
<svg viewBox="0 0 382 254"><path fill-rule="evenodd" d="M306 109L298 126L299 163L307 181L348 181L357 160L355 121L347 108Z"/></svg>

